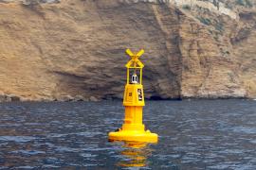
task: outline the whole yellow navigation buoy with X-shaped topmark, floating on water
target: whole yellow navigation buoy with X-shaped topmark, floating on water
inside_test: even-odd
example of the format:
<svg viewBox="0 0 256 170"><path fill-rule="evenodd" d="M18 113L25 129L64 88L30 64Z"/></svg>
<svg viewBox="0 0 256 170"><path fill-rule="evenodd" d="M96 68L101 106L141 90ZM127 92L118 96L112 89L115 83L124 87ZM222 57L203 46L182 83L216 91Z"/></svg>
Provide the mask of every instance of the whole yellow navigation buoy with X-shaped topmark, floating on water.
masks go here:
<svg viewBox="0 0 256 170"><path fill-rule="evenodd" d="M127 49L126 53L132 59L125 65L127 68L127 82L123 96L124 123L117 131L108 134L109 141L157 143L157 134L145 130L142 123L142 109L145 106L142 85L142 68L144 65L138 58L144 53L144 50L134 54L130 49ZM133 72L132 78L130 78L131 70ZM139 74L139 80L137 74Z"/></svg>

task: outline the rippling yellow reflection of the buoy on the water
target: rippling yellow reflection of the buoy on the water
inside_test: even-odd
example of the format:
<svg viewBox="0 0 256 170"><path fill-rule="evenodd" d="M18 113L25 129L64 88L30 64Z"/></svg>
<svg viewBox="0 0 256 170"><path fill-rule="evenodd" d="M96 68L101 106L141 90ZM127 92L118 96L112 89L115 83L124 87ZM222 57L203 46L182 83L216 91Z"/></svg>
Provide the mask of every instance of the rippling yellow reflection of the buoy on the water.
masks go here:
<svg viewBox="0 0 256 170"><path fill-rule="evenodd" d="M146 143L122 143L124 150L120 151L123 160L117 163L121 167L143 167L148 165L147 158L152 154L152 149Z"/></svg>

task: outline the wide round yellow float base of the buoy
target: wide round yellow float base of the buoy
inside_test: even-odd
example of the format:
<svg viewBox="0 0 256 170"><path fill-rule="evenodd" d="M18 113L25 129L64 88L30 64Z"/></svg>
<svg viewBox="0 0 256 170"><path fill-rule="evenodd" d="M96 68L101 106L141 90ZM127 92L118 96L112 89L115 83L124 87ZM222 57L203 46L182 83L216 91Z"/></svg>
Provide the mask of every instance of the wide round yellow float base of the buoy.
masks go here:
<svg viewBox="0 0 256 170"><path fill-rule="evenodd" d="M108 134L108 139L110 142L115 141L124 141L124 142L140 142L140 143L157 143L158 135L146 131L130 131L130 130L121 130L110 132Z"/></svg>

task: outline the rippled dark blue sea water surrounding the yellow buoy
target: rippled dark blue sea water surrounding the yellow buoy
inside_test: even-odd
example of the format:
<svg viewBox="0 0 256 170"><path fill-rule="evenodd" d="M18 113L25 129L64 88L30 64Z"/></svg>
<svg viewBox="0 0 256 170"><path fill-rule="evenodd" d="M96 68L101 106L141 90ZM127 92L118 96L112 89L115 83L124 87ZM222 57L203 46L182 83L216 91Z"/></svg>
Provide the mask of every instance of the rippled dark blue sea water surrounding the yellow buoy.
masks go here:
<svg viewBox="0 0 256 170"><path fill-rule="evenodd" d="M256 102L148 101L158 144L108 143L121 102L0 104L0 169L256 169ZM133 168L132 168L133 167Z"/></svg>

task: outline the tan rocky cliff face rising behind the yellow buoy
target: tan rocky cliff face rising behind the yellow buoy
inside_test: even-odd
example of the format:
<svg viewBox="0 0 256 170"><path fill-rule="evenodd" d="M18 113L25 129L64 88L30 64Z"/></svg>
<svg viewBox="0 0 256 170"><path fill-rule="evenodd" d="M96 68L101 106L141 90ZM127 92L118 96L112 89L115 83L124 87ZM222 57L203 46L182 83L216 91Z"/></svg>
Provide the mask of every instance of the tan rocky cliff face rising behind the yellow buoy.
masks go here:
<svg viewBox="0 0 256 170"><path fill-rule="evenodd" d="M231 18L160 1L52 2L0 3L0 100L121 98L128 47L146 51L147 98L256 97L253 6L233 4Z"/></svg>

